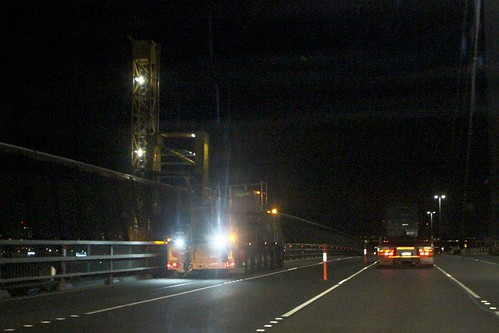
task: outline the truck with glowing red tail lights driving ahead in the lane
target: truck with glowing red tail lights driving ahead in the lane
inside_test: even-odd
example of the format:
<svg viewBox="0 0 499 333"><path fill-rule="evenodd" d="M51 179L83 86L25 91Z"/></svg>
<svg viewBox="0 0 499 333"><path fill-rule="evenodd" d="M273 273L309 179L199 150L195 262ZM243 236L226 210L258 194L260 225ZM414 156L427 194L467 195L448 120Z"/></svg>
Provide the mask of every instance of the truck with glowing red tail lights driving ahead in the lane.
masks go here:
<svg viewBox="0 0 499 333"><path fill-rule="evenodd" d="M387 236L380 240L378 260L381 266L411 265L433 267L431 240L419 236L417 206L399 204L389 207Z"/></svg>

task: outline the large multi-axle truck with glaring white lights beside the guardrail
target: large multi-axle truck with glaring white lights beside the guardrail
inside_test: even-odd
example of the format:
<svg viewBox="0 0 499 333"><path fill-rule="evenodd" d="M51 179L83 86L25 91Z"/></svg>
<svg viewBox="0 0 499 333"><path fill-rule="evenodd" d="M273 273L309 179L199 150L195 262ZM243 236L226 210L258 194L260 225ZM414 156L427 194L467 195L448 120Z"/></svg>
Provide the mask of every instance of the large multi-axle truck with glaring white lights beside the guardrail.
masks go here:
<svg viewBox="0 0 499 333"><path fill-rule="evenodd" d="M252 273L282 267L281 226L279 217L267 212L266 195L253 186L231 186L223 200L198 207L195 222L168 241L168 270Z"/></svg>

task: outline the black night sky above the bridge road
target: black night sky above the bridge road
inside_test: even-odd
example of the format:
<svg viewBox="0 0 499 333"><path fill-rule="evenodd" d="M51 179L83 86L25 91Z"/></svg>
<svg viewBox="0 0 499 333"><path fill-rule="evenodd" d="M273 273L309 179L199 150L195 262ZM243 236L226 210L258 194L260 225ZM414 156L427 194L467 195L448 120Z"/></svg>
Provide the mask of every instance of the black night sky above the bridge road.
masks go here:
<svg viewBox="0 0 499 333"><path fill-rule="evenodd" d="M375 232L399 198L434 209L445 191L448 218L460 210L466 1L2 1L0 11L1 142L130 172L128 36L152 39L160 130L210 134L212 185L265 180L282 211L353 233ZM483 110L470 174L470 209L482 211Z"/></svg>

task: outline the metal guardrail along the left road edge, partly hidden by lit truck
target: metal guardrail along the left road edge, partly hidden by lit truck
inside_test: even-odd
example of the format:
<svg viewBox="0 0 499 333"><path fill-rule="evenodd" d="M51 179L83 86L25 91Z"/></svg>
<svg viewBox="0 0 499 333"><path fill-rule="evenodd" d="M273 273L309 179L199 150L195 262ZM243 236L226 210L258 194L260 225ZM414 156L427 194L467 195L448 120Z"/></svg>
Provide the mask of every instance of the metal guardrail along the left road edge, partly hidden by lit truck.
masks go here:
<svg viewBox="0 0 499 333"><path fill-rule="evenodd" d="M0 289L166 269L164 242L0 240ZM361 250L327 245L329 254ZM286 243L285 260L322 257L322 244Z"/></svg>

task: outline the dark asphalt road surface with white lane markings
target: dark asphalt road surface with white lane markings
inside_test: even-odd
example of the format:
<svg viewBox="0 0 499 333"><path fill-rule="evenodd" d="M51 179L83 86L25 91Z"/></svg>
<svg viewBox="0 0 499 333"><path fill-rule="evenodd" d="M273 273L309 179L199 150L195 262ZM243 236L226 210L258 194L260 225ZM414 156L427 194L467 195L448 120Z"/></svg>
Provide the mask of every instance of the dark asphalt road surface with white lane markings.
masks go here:
<svg viewBox="0 0 499 333"><path fill-rule="evenodd" d="M334 257L252 276L153 279L0 301L0 332L499 332L499 257L433 268Z"/></svg>

